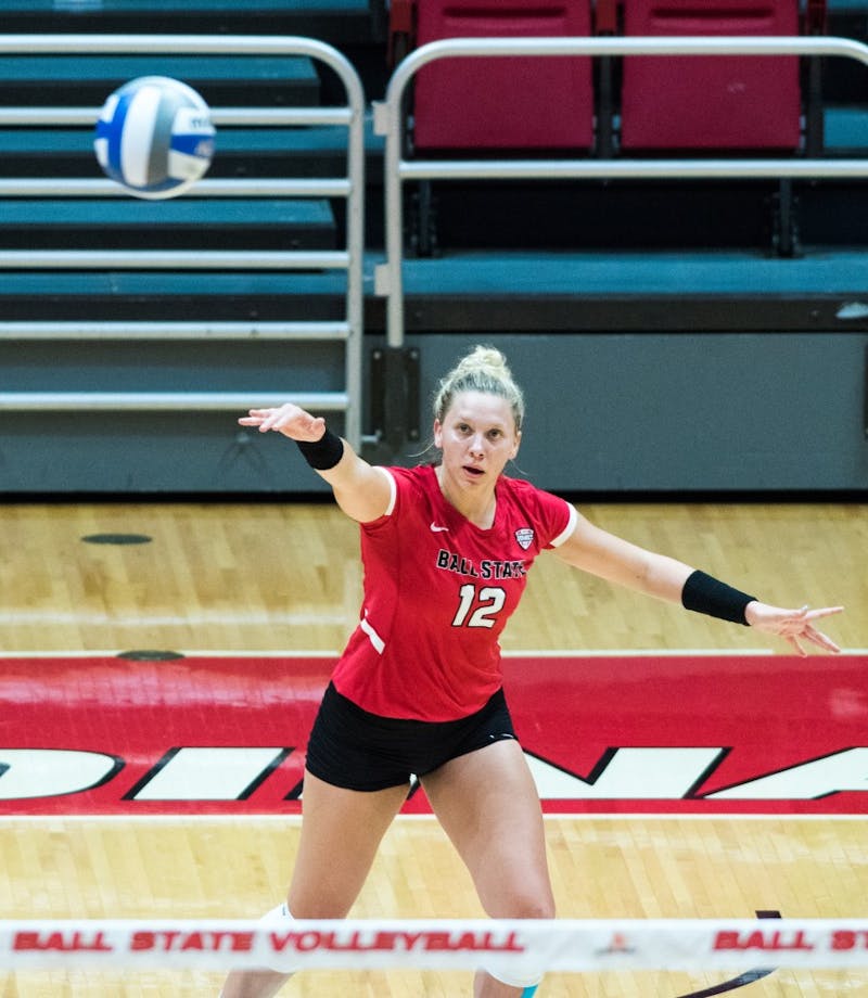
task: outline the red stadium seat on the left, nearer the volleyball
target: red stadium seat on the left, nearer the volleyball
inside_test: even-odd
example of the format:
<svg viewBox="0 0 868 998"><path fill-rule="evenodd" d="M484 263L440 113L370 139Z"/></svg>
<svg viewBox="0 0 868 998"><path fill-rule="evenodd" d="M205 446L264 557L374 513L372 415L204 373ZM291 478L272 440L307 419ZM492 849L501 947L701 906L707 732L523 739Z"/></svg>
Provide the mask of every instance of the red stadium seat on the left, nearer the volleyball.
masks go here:
<svg viewBox="0 0 868 998"><path fill-rule="evenodd" d="M416 43L441 38L588 36L590 0L421 0ZM417 149L589 149L589 59L442 60L420 69Z"/></svg>

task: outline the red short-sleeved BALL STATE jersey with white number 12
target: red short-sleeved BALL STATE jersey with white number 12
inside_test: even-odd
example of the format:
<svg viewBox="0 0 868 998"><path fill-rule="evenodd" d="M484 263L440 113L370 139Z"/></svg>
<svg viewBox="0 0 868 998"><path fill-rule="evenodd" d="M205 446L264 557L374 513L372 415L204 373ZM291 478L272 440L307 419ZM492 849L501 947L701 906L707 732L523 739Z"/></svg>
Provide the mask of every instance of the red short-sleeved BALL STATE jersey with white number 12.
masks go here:
<svg viewBox="0 0 868 998"><path fill-rule="evenodd" d="M482 529L447 502L432 465L382 471L393 499L361 525L361 619L332 680L382 717L467 717L500 688L500 632L534 559L566 540L576 511L501 475Z"/></svg>

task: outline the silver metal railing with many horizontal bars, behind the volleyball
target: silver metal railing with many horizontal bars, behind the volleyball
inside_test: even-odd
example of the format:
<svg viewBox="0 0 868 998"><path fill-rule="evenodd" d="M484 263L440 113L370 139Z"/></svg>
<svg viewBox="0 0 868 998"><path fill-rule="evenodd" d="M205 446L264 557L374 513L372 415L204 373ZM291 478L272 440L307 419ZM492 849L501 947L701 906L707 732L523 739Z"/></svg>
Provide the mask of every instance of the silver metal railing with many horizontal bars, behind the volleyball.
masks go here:
<svg viewBox="0 0 868 998"><path fill-rule="evenodd" d="M337 178L222 180L204 179L187 196L195 197L342 197L347 202L345 252L226 252L206 251L8 251L0 252L3 269L258 269L289 271L301 268L323 268L346 271L345 321L323 322L100 322L92 323L0 323L0 338L106 338L124 335L133 338L158 338L177 335L182 338L286 338L342 341L344 348L345 392L280 393L264 395L240 393L0 393L0 409L39 409L52 405L65 411L75 409L230 409L273 405L276 401L298 400L322 411L344 411L344 435L359 446L361 438L361 348L365 250L365 111L366 99L359 76L349 61L336 49L312 38L298 36L202 36L202 35L0 35L0 56L11 53L103 53L103 54L192 54L192 55L301 55L326 64L341 80L346 105L337 107L290 108L213 108L215 124L232 126L342 126L347 129L346 172ZM0 107L0 125L11 126L92 126L99 116L94 107ZM122 188L110 180L69 179L2 179L0 197L123 197ZM25 330L26 327L26 330ZM266 402L266 399L268 401ZM53 401L52 401L53 400Z"/></svg>

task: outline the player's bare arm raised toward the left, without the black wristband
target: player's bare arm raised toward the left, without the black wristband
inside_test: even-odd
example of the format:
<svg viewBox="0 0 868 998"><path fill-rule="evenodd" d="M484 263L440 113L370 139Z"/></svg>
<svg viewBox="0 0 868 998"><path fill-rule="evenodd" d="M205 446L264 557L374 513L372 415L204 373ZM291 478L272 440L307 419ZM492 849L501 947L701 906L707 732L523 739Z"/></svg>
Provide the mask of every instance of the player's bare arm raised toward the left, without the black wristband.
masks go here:
<svg viewBox="0 0 868 998"><path fill-rule="evenodd" d="M242 426L255 426L259 433L273 430L296 444L316 444L326 439L326 420L286 402L275 409L251 409L239 420ZM388 509L392 486L386 473L360 458L346 440L343 453L331 468L317 468L317 474L331 485L341 509L359 523L369 523ZM337 451L335 452L335 456Z"/></svg>

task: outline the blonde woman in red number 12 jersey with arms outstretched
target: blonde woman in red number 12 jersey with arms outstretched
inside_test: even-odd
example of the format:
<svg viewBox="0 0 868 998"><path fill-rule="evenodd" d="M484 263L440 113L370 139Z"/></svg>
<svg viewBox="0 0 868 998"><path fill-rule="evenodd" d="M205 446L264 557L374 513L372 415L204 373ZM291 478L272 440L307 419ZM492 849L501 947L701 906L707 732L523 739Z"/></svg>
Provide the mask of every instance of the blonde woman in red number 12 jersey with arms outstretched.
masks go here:
<svg viewBox="0 0 868 998"><path fill-rule="evenodd" d="M539 801L501 689L498 637L536 555L690 610L839 649L815 629L841 607L783 610L592 526L567 502L503 474L524 400L503 356L477 346L441 382L434 445L414 469L368 464L294 405L240 420L295 440L361 525L360 622L324 694L307 754L304 822L288 903L267 918L343 918L417 775L494 918L552 918ZM536 991L481 969L476 998ZM222 998L269 998L286 980L234 972Z"/></svg>

